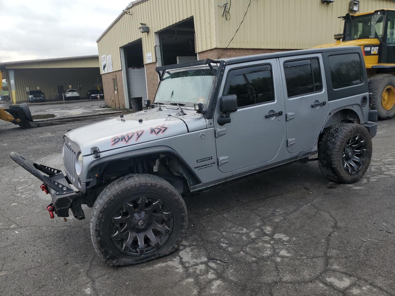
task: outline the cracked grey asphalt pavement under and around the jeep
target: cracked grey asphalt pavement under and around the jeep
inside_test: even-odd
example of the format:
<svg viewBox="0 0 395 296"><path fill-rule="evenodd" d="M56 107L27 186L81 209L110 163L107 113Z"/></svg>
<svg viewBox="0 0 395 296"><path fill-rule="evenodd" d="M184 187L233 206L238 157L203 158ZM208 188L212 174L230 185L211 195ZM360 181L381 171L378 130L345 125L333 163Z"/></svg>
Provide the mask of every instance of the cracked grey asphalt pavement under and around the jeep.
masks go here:
<svg viewBox="0 0 395 296"><path fill-rule="evenodd" d="M185 199L178 251L122 268L96 256L89 208L49 219L40 180L8 156L62 169L62 135L92 122L0 122L0 295L395 295L395 119L379 122L359 182L331 182L312 161L219 185Z"/></svg>

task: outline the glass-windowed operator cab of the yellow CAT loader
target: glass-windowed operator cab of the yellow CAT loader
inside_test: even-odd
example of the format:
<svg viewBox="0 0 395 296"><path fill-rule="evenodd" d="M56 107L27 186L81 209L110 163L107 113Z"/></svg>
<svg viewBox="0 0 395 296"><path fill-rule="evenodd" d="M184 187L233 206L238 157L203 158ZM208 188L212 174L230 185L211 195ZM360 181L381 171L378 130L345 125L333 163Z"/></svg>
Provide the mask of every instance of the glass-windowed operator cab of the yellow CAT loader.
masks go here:
<svg viewBox="0 0 395 296"><path fill-rule="evenodd" d="M395 63L395 10L347 13L342 18L342 41L360 40L366 64Z"/></svg>

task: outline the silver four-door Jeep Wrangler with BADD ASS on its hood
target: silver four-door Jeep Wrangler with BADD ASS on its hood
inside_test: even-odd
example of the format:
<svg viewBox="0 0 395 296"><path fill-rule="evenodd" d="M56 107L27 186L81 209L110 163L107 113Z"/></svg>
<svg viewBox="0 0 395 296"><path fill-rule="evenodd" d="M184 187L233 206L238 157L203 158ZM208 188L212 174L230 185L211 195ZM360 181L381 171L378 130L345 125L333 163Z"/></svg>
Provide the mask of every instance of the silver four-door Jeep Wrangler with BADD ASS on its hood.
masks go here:
<svg viewBox="0 0 395 296"><path fill-rule="evenodd" d="M92 242L111 266L175 251L188 222L182 196L293 161L318 160L341 183L369 167L377 113L369 111L359 47L207 59L157 72L145 111L64 135L65 175L10 154L43 181L52 217L71 209L84 219L81 204L93 207Z"/></svg>

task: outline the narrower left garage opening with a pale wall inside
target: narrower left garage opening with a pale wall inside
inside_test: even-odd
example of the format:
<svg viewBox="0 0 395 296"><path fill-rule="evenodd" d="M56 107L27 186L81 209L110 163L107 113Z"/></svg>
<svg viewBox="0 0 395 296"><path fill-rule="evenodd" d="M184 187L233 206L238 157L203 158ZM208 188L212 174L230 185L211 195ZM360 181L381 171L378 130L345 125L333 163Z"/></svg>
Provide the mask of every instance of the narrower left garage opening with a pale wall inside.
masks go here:
<svg viewBox="0 0 395 296"><path fill-rule="evenodd" d="M141 98L141 102L147 99L147 83L145 80L145 68L143 60L143 44L141 39L124 47L125 63L127 66L127 81L132 107L132 98Z"/></svg>

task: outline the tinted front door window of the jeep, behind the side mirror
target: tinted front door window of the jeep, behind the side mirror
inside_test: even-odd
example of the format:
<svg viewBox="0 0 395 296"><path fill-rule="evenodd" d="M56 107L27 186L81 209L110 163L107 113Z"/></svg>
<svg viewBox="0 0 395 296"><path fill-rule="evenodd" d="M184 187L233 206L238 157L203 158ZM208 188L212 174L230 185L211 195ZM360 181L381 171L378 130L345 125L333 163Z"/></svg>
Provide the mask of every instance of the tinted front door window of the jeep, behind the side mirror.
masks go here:
<svg viewBox="0 0 395 296"><path fill-rule="evenodd" d="M237 106L272 102L274 98L271 66L263 65L229 71L224 95L235 94Z"/></svg>

